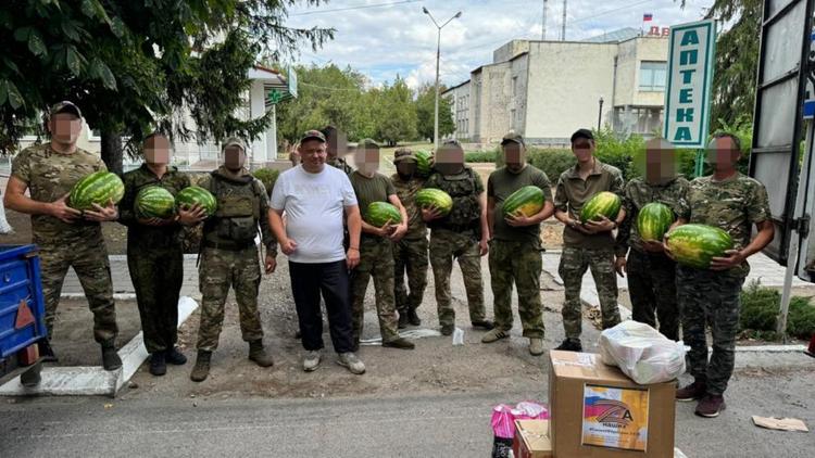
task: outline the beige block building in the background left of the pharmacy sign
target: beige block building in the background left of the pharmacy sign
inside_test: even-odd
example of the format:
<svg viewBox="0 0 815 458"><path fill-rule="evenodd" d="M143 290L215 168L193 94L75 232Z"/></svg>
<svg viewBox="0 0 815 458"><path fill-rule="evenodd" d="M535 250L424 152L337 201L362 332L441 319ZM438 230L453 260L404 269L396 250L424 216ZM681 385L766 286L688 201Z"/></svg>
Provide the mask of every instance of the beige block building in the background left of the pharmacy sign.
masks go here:
<svg viewBox="0 0 815 458"><path fill-rule="evenodd" d="M599 116L616 131L650 137L662 125L667 54L662 35L634 29L587 41L510 41L443 92L451 137L488 145L512 129L528 143L562 147Z"/></svg>

